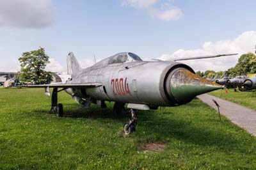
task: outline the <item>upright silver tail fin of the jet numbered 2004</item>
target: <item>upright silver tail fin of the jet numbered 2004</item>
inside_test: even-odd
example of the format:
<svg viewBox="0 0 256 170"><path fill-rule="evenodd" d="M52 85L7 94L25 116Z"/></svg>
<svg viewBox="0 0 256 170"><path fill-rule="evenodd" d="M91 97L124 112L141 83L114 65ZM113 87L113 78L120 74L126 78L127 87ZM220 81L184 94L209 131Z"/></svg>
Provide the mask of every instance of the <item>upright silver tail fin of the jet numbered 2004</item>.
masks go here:
<svg viewBox="0 0 256 170"><path fill-rule="evenodd" d="M77 73L79 73L82 70L82 68L79 66L79 63L77 62L73 52L68 53L67 66L68 66L68 74L69 75L76 75Z"/></svg>

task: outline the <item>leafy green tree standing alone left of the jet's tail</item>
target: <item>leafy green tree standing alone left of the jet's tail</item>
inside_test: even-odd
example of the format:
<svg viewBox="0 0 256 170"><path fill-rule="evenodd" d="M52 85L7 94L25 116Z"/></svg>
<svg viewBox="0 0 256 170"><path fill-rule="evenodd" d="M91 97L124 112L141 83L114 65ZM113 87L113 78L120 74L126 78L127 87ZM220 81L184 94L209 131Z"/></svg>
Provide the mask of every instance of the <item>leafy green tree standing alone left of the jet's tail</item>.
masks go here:
<svg viewBox="0 0 256 170"><path fill-rule="evenodd" d="M23 52L19 61L21 81L35 82L35 84L49 84L52 81L51 72L45 71L45 66L50 62L44 48Z"/></svg>

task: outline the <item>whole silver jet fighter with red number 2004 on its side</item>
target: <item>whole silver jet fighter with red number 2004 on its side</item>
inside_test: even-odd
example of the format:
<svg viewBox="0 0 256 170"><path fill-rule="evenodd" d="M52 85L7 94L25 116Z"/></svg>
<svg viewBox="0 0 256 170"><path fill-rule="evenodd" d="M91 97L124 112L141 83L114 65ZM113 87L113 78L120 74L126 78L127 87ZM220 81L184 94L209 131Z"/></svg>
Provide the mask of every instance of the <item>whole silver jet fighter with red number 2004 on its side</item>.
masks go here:
<svg viewBox="0 0 256 170"><path fill-rule="evenodd" d="M116 54L85 69L79 66L73 52L70 52L67 65L71 79L65 84L28 87L45 88L46 95L50 95L49 88L53 88L51 111L57 116L63 116L63 105L58 104L58 92L63 90L85 108L90 104L105 108L105 101L111 101L115 102L114 111L119 113L128 104L132 118L124 125L125 134L135 130L136 109L187 104L197 95L222 88L196 75L188 65L174 61L143 61L131 52Z"/></svg>

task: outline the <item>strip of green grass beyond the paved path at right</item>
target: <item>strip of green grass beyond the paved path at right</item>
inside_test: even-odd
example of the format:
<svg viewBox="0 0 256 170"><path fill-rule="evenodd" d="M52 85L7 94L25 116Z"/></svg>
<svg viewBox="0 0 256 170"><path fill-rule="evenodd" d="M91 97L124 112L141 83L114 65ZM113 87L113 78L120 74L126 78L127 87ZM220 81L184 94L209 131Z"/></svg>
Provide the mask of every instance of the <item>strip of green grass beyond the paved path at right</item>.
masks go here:
<svg viewBox="0 0 256 170"><path fill-rule="evenodd" d="M230 102L234 102L251 109L256 109L256 91L234 91L234 89L227 89L228 93L225 93L225 89L212 91L210 95L223 98Z"/></svg>

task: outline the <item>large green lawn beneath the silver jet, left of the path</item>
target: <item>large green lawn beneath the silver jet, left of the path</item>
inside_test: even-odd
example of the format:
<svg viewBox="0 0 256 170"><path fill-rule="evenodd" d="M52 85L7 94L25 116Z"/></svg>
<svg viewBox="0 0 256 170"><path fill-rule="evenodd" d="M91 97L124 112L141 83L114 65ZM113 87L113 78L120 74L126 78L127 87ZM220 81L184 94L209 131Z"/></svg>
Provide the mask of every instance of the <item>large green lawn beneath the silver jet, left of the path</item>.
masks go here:
<svg viewBox="0 0 256 170"><path fill-rule="evenodd" d="M65 92L67 116L48 114L44 89L0 88L0 169L256 169L256 139L200 100L161 111L139 111L136 132L112 103L84 110ZM144 143L166 144L160 152Z"/></svg>

